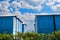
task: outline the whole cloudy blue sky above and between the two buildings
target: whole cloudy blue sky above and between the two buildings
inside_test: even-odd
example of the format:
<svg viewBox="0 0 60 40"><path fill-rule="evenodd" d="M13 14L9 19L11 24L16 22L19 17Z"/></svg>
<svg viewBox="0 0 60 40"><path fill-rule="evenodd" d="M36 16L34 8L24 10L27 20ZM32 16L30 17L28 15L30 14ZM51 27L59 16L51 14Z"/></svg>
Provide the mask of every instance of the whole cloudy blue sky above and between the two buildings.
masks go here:
<svg viewBox="0 0 60 40"><path fill-rule="evenodd" d="M31 27L34 26L35 14L60 13L60 0L0 0L0 13L3 11L19 13Z"/></svg>

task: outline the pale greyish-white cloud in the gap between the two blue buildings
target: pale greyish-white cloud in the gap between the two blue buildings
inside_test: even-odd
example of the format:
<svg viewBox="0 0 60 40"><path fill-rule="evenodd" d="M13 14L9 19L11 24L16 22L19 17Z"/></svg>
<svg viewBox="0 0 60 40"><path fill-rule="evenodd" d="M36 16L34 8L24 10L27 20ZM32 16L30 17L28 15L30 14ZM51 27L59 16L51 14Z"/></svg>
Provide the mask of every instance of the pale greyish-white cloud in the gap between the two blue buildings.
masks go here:
<svg viewBox="0 0 60 40"><path fill-rule="evenodd" d="M23 22L25 22L28 27L27 27L27 30L34 30L34 20L35 20L35 15L32 14L32 13L25 13L23 15L21 15L20 17Z"/></svg>

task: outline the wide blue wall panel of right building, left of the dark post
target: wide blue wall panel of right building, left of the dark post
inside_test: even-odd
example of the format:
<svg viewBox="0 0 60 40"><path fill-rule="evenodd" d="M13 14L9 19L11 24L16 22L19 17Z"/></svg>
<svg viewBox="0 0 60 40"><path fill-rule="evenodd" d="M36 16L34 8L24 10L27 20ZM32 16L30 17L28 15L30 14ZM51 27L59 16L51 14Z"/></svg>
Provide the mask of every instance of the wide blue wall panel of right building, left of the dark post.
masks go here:
<svg viewBox="0 0 60 40"><path fill-rule="evenodd" d="M53 16L36 16L38 33L52 33L54 31Z"/></svg>

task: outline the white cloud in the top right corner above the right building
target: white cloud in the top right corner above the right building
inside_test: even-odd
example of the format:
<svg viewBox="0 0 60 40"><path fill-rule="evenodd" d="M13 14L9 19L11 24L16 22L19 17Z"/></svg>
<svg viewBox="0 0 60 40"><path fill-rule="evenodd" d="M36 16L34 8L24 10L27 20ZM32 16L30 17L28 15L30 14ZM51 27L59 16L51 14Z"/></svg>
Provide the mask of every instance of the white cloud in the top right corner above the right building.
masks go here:
<svg viewBox="0 0 60 40"><path fill-rule="evenodd" d="M56 4L56 2L60 2L60 0L48 0L46 5L49 6L53 11L58 12L60 11L60 4Z"/></svg>

